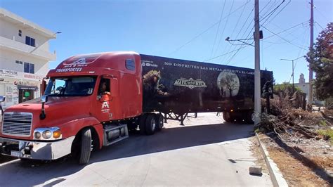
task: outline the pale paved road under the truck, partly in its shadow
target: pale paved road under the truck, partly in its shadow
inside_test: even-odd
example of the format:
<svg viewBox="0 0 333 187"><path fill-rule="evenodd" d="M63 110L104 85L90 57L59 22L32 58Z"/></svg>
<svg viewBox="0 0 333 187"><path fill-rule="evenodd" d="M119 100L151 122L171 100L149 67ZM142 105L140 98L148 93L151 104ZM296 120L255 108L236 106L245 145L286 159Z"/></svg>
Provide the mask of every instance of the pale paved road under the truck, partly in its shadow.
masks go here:
<svg viewBox="0 0 333 187"><path fill-rule="evenodd" d="M168 121L152 136L130 138L93 153L89 165L71 158L0 165L0 186L272 186L253 176L253 126L228 124L216 113L198 114L185 126Z"/></svg>

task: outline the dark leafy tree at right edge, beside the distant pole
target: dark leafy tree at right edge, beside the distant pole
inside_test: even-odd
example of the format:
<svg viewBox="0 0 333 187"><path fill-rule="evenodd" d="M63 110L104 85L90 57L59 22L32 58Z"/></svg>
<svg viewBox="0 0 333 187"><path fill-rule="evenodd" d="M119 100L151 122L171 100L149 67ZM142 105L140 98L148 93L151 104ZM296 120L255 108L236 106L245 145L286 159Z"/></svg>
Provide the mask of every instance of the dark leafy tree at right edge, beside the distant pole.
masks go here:
<svg viewBox="0 0 333 187"><path fill-rule="evenodd" d="M311 57L313 62L311 62ZM315 72L315 97L320 100L333 97L333 22L320 32L307 60Z"/></svg>

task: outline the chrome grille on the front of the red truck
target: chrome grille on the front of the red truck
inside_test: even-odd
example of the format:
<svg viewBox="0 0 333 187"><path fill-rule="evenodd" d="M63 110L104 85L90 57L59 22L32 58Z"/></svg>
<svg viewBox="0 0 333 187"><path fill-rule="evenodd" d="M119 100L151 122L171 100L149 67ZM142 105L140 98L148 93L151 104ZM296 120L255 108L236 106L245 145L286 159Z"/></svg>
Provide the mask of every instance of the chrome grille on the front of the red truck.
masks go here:
<svg viewBox="0 0 333 187"><path fill-rule="evenodd" d="M2 134L13 136L30 136L32 113L5 112L2 122Z"/></svg>

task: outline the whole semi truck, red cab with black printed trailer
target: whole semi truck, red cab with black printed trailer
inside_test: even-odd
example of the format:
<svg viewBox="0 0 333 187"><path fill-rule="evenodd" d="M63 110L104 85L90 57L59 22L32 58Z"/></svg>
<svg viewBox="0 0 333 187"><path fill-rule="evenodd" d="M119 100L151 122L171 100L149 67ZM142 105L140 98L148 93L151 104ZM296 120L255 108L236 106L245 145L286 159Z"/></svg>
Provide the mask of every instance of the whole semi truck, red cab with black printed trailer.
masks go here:
<svg viewBox="0 0 333 187"><path fill-rule="evenodd" d="M262 85L273 79L272 72L261 74ZM72 56L48 72L41 98L4 111L0 153L21 160L72 154L86 164L91 150L131 130L154 134L166 119L183 124L189 112L251 121L253 85L254 70L242 67L135 52Z"/></svg>

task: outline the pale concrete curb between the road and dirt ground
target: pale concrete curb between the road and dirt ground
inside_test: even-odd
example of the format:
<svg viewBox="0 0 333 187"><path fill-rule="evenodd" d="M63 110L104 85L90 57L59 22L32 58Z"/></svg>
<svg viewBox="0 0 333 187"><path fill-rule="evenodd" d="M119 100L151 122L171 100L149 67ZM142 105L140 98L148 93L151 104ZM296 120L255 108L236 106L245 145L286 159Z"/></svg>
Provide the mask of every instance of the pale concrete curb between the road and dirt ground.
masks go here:
<svg viewBox="0 0 333 187"><path fill-rule="evenodd" d="M268 150L261 143L257 133L256 133L256 138L258 139L259 146L261 148L261 151L263 152L263 158L264 158L264 160L266 162L266 165L268 167L270 180L272 181L273 186L275 186L275 187L277 187L277 186L288 186L288 183L285 180L285 178L283 178L282 173L280 172L280 169L275 164L275 162L273 162L273 160L270 159L269 154L268 154Z"/></svg>

